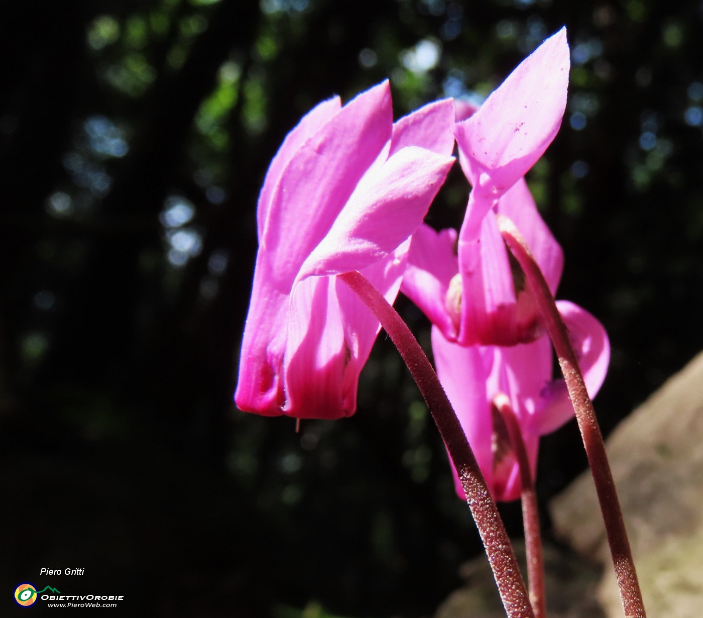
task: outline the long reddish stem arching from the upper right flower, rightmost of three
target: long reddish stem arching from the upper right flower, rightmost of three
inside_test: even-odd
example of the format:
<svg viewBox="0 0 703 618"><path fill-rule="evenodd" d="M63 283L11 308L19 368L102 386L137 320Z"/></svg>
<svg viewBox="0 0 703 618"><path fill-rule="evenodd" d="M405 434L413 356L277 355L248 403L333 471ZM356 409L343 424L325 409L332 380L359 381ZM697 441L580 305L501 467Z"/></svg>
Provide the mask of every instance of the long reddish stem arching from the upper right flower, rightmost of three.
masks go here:
<svg viewBox="0 0 703 618"><path fill-rule="evenodd" d="M598 420L595 418L591 397L588 397L588 391L583 382L579 362L576 360L576 354L569 341L567 328L559 314L552 292L520 231L508 217L498 214L496 218L505 244L508 245L512 255L515 256L525 273L567 383L569 397L572 400L576 421L579 423L579 430L583 438L583 446L586 448L588 465L591 466L603 522L605 522L605 532L610 545L625 616L626 618L645 618L645 605L642 600L640 584L637 581L637 572L632 559L620 502L605 453L605 444L603 444L603 438L600 434Z"/></svg>

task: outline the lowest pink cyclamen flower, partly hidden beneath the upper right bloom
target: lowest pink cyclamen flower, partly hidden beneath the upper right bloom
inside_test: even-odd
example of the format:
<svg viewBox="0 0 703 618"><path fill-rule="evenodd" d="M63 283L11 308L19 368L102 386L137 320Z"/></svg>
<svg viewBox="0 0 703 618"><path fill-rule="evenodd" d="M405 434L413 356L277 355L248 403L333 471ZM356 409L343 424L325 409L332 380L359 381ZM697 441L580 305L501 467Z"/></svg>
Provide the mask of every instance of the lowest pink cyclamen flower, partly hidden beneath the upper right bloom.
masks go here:
<svg viewBox="0 0 703 618"><path fill-rule="evenodd" d="M600 389L610 344L605 329L576 305L557 302L579 357L586 389L591 397ZM517 423L534 478L539 437L574 418L564 380L552 380L552 348L544 335L527 344L510 347L462 346L446 340L432 327L432 351L437 375L454 407L494 498L520 498L520 469L508 437L495 423L493 404L507 397ZM464 492L454 471L456 492Z"/></svg>

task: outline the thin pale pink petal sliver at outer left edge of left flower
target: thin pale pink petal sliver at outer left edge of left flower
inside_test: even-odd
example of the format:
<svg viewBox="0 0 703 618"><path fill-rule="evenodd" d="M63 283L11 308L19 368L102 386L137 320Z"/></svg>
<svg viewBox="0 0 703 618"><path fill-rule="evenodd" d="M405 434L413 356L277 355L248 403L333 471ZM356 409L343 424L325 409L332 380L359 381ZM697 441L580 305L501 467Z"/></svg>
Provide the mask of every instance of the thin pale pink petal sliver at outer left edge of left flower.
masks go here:
<svg viewBox="0 0 703 618"><path fill-rule="evenodd" d="M262 241L264 224L269 215L271 195L276 184L278 184L281 174L283 174L285 166L295 156L298 148L332 120L339 113L340 108L342 108L342 103L338 96L319 103L307 112L297 126L285 136L276 156L271 160L271 165L269 165L269 170L266 172L266 178L264 179L264 186L259 194L259 206L257 208L259 243Z"/></svg>

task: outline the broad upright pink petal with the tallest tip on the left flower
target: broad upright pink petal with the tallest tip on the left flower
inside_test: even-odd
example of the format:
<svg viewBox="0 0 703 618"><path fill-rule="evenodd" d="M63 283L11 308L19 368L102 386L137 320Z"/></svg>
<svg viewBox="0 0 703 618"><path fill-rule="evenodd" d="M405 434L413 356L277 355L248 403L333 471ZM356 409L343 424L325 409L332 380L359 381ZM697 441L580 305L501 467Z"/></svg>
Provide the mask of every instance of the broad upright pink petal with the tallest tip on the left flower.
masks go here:
<svg viewBox="0 0 703 618"><path fill-rule="evenodd" d="M271 195L260 245L281 283L292 285L378 158L391 136L392 113L383 82L344 105L288 162Z"/></svg>

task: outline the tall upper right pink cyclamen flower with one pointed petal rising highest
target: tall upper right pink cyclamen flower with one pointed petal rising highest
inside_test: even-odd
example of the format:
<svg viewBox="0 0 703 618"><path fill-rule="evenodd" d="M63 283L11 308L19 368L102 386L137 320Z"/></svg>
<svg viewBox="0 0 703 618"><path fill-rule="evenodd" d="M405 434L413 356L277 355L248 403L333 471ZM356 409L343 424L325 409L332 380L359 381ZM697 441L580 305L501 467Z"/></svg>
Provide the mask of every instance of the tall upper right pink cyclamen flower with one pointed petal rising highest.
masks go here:
<svg viewBox="0 0 703 618"><path fill-rule="evenodd" d="M451 341L515 345L543 332L494 214L515 222L554 293L562 252L539 217L523 176L559 130L568 80L569 46L562 29L526 58L477 112L456 124L460 164L472 185L458 240L453 231L436 234L424 228L415 234L402 288ZM471 110L457 113L465 117Z"/></svg>

